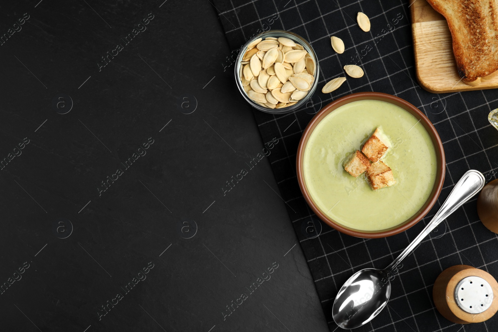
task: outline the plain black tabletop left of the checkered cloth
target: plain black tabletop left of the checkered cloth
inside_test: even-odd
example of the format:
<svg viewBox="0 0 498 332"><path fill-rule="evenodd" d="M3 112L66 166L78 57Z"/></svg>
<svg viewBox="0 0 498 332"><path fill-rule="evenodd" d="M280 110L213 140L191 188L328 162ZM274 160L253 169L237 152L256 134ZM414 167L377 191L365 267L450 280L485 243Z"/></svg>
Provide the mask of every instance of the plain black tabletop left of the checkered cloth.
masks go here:
<svg viewBox="0 0 498 332"><path fill-rule="evenodd" d="M21 153L0 173L0 331L327 331L268 158L246 165L264 146L209 1L36 2L0 7L2 34L30 16L0 46L0 158Z"/></svg>

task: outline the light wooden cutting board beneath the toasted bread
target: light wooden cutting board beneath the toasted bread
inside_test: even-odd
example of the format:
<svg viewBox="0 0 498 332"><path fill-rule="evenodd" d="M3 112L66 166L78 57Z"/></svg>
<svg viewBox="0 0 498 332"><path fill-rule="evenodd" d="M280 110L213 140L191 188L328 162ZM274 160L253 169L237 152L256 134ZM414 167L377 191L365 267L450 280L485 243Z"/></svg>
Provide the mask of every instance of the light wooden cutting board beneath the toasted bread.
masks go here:
<svg viewBox="0 0 498 332"><path fill-rule="evenodd" d="M463 83L457 72L446 19L426 0L410 2L416 73L422 88L432 93L498 88L498 77L475 87Z"/></svg>

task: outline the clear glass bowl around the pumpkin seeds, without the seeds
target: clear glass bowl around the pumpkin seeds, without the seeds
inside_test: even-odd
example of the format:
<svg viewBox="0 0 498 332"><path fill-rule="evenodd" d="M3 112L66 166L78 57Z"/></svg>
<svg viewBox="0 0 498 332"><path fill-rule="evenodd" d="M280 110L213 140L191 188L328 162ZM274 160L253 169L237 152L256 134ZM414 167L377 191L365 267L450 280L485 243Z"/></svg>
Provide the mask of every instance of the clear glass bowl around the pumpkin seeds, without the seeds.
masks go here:
<svg viewBox="0 0 498 332"><path fill-rule="evenodd" d="M313 61L315 61L315 73L313 75L315 77L315 79L313 80L313 83L311 84L311 88L308 91L308 94L303 99L301 99L299 102L297 102L296 104L294 104L292 106L288 106L288 107L282 108L282 109L270 109L270 108L262 107L262 106L256 104L255 102L253 102L251 99L249 99L249 96L247 95L246 91L244 90L244 87L242 86L242 81L239 78L241 67L243 66L241 64L241 61L242 61L242 58L243 58L244 54L246 53L246 50L247 50L247 47L248 47L249 43L251 41L257 39L257 38L262 38L264 40L264 38L266 38L266 37L276 37L276 38L278 38L278 37L286 37L286 38L292 39L297 44L300 44L301 46L303 46L304 49L311 55ZM263 32L263 33L261 33L261 34L259 34L257 36L252 37L241 48L241 50L239 52L239 55L237 56L237 61L236 61L236 64L235 64L235 81L237 82L237 87L239 88L239 91L241 92L241 95L244 97L244 99L253 108L258 109L259 111L266 112L266 113L283 114L283 113L289 113L289 112L298 110L299 108L301 108L303 105L306 104L306 101L311 96L313 96L313 94L315 93L315 90L316 90L316 86L318 85L318 73L319 72L320 72L320 68L319 68L319 64L318 64L318 59L317 59L316 53L313 50L313 47L311 47L311 45L306 41L306 39L304 39L303 37L301 37L301 36L299 36L299 35L297 35L297 34L295 34L293 32L290 32L290 31L285 31L285 30L269 30L269 31Z"/></svg>

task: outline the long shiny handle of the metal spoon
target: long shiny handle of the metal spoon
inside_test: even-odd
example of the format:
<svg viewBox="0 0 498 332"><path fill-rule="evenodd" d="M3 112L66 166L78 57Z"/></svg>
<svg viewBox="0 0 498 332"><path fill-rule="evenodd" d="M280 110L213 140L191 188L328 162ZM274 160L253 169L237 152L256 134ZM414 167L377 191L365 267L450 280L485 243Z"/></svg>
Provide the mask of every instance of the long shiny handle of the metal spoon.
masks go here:
<svg viewBox="0 0 498 332"><path fill-rule="evenodd" d="M462 178L457 182L450 195L444 201L443 205L436 213L434 218L425 226L425 228L420 232L420 234L415 237L415 239L406 247L406 249L401 252L401 254L386 268L388 271L392 271L403 258L408 256L413 249L426 237L441 221L445 220L449 215L451 215L455 210L460 208L462 204L471 199L476 195L481 189L483 189L485 184L484 175L476 170L467 171Z"/></svg>

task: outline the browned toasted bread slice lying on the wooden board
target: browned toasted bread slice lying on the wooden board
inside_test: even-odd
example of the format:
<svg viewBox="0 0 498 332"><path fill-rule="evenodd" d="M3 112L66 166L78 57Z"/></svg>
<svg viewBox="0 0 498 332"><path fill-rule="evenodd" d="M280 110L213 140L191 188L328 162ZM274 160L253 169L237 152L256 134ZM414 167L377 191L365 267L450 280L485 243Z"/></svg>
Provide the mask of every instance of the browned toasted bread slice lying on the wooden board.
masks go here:
<svg viewBox="0 0 498 332"><path fill-rule="evenodd" d="M448 22L458 74L468 85L498 69L496 0L427 0Z"/></svg>

